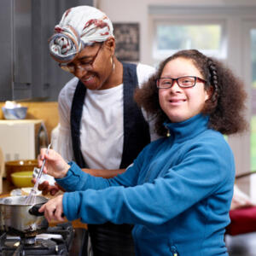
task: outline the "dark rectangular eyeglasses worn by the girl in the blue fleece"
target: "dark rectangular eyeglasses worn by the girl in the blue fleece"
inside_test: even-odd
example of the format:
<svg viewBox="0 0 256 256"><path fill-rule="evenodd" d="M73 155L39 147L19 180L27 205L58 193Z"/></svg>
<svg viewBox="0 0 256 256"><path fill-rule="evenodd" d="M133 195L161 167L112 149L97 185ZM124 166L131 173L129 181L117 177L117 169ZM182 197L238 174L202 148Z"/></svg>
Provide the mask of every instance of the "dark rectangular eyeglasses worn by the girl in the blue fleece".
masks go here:
<svg viewBox="0 0 256 256"><path fill-rule="evenodd" d="M156 79L156 86L159 89L171 88L175 81L177 81L177 85L181 88L193 87L193 86L195 86L197 81L207 83L206 80L198 78L198 77L185 76L185 77L180 77L177 79L172 79L172 78Z"/></svg>

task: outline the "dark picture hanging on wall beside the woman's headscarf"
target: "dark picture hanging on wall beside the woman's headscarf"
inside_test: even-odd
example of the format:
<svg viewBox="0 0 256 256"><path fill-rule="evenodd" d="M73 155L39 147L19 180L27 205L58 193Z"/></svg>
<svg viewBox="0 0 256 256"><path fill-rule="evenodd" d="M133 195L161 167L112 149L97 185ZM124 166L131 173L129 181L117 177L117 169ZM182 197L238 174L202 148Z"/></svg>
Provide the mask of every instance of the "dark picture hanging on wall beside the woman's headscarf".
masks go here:
<svg viewBox="0 0 256 256"><path fill-rule="evenodd" d="M116 42L115 55L119 61L139 61L139 24L113 23L113 34Z"/></svg>

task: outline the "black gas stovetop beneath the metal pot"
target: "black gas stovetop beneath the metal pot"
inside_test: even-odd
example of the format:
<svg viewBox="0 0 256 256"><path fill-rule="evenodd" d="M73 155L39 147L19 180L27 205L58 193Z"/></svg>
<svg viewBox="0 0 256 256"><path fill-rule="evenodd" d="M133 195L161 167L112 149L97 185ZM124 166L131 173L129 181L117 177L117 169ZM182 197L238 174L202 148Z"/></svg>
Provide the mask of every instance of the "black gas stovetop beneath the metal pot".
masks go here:
<svg viewBox="0 0 256 256"><path fill-rule="evenodd" d="M35 237L0 235L0 256L36 256L36 255L69 255L74 230L71 223L57 224L49 227L45 233Z"/></svg>

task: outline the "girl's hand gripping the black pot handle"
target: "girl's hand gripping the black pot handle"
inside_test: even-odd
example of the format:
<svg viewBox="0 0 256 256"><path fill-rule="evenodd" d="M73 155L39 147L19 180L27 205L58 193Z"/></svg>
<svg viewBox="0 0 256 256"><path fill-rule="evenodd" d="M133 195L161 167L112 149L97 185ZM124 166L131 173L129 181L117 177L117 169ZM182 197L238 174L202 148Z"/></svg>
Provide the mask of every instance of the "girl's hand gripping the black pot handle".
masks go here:
<svg viewBox="0 0 256 256"><path fill-rule="evenodd" d="M44 217L48 220L55 219L58 221L65 221L63 218L62 207L63 195L58 195L54 199L49 200L38 212L44 212Z"/></svg>

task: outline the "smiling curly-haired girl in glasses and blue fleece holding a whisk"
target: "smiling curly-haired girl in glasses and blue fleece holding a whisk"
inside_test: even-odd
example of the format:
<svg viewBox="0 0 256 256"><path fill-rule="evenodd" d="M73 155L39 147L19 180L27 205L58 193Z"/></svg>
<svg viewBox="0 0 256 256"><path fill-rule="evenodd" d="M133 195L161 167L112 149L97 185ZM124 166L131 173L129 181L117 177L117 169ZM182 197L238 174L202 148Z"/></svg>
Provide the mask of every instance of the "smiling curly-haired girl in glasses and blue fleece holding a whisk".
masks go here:
<svg viewBox="0 0 256 256"><path fill-rule="evenodd" d="M137 255L228 255L224 232L235 162L222 133L245 129L240 80L220 62L183 50L160 64L136 100L155 115L155 130L164 137L110 179L43 149L39 164L45 158L44 172L69 193L40 211L48 220L63 220L64 212L87 224L134 224Z"/></svg>

